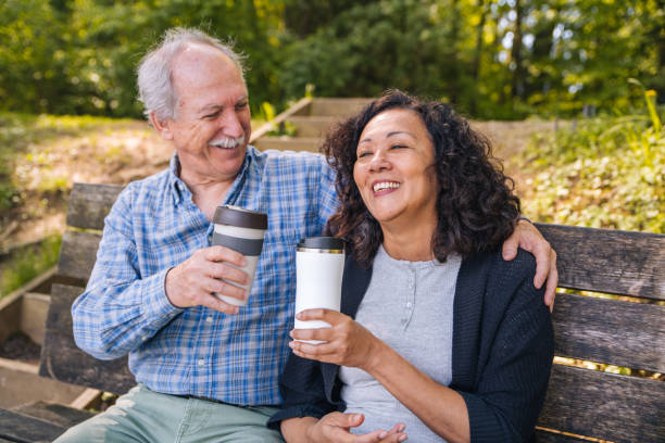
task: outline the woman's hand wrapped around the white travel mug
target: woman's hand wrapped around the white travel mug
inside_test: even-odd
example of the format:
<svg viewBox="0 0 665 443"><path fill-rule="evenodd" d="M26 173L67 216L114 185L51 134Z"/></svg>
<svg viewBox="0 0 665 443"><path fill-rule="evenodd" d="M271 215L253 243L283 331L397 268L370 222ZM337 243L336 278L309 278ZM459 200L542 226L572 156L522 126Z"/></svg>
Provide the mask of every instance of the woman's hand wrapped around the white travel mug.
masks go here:
<svg viewBox="0 0 665 443"><path fill-rule="evenodd" d="M334 363L340 366L367 369L384 345L372 332L351 317L330 309L305 309L296 315L299 320L323 320L330 328L293 329L294 340L318 340L325 343L289 343L299 357Z"/></svg>

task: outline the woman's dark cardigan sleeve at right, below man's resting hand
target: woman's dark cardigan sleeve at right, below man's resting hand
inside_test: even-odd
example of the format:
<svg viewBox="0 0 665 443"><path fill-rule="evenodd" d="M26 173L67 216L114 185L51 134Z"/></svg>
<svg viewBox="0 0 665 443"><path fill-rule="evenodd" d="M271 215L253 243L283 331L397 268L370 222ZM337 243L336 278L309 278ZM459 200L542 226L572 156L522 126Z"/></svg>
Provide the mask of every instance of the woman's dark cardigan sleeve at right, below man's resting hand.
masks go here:
<svg viewBox="0 0 665 443"><path fill-rule="evenodd" d="M531 271L525 273L498 321L487 362L479 365L477 389L457 391L466 403L472 442L525 442L534 435L554 353L550 312L542 302L544 287L534 287L534 267L526 266ZM497 290L505 288L510 274L500 279ZM488 295L500 296L492 289Z"/></svg>

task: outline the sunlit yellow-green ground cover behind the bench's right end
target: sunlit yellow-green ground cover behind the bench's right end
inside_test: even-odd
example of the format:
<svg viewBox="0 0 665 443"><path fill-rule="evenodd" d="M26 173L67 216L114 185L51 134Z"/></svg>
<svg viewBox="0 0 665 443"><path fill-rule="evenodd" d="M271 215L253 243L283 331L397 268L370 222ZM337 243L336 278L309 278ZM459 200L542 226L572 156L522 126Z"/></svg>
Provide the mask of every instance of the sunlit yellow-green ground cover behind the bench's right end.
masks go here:
<svg viewBox="0 0 665 443"><path fill-rule="evenodd" d="M644 93L647 103L653 96ZM598 117L539 136L522 160L534 176L525 213L548 223L665 232L665 130L655 107L647 107L647 116Z"/></svg>

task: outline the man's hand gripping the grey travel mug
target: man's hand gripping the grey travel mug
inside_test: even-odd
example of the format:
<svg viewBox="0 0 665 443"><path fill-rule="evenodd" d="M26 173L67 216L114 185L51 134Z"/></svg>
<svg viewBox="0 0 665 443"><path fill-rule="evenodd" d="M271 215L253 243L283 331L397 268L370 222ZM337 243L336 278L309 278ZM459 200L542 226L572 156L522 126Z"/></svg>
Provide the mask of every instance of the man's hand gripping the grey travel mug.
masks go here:
<svg viewBox="0 0 665 443"><path fill-rule="evenodd" d="M224 278L239 284L247 284L249 276L234 266L247 264L244 256L224 246L200 249L166 274L166 296L174 306L208 306L225 314L237 314L238 306L224 303L214 292L244 300L247 291L222 281Z"/></svg>

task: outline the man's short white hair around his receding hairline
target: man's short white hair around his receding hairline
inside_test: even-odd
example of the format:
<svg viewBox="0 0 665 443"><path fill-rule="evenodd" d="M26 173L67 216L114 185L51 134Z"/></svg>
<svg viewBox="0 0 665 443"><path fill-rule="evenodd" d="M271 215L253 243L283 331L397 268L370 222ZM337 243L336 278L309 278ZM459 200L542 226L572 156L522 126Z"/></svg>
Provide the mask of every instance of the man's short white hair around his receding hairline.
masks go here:
<svg viewBox="0 0 665 443"><path fill-rule="evenodd" d="M242 55L236 53L230 45L199 29L171 28L164 33L159 45L141 59L138 66L138 100L143 103L143 114L147 117L153 112L161 122L175 118L178 98L172 83L172 65L176 55L191 43L208 45L222 51L235 63L244 81Z"/></svg>

